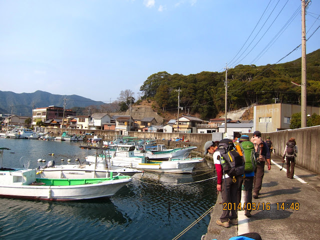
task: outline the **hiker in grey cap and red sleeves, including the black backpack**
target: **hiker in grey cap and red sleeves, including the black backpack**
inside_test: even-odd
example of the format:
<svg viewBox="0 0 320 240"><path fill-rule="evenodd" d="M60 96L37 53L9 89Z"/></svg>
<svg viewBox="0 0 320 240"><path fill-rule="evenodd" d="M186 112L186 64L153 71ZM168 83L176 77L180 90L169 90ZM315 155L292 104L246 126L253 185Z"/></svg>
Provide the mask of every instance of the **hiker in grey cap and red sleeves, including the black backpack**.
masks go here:
<svg viewBox="0 0 320 240"><path fill-rule="evenodd" d="M204 144L204 155L213 154L213 163L217 174L216 189L221 192L222 214L216 224L229 227L238 224L237 219L237 185L244 172L242 157L234 149L230 139L207 141ZM230 203L230 204L228 204Z"/></svg>

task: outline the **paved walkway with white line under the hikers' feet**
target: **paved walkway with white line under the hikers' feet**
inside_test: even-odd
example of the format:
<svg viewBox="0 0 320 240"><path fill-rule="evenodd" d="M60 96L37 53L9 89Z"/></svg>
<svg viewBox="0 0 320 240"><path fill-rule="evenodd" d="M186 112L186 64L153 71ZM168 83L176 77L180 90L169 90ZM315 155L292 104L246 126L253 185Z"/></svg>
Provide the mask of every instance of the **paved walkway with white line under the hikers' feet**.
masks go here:
<svg viewBox="0 0 320 240"><path fill-rule="evenodd" d="M320 176L295 166L294 178L289 179L285 163L280 170L281 158L271 154L271 159L270 171L264 168L259 198L252 198L259 209L251 211L250 218L238 211L238 226L219 226L215 223L222 213L219 194L203 240L224 240L246 232L258 232L263 240L320 239ZM291 203L294 210L290 209Z"/></svg>

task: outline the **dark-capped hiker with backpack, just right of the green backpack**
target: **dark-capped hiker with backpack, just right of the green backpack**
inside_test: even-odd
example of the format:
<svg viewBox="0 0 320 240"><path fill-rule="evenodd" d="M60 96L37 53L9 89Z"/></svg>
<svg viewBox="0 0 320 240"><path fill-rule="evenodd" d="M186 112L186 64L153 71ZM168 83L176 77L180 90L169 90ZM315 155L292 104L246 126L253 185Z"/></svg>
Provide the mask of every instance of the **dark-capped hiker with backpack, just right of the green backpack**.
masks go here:
<svg viewBox="0 0 320 240"><path fill-rule="evenodd" d="M268 170L271 169L271 155L269 148L265 144L264 141L261 139L261 132L254 131L253 136L251 137L250 141L254 145L255 150L255 157L258 161L256 163L256 168L254 170L254 177L253 177L253 198L258 198L259 191L261 190L262 186L262 179L264 175L264 165L267 164Z"/></svg>

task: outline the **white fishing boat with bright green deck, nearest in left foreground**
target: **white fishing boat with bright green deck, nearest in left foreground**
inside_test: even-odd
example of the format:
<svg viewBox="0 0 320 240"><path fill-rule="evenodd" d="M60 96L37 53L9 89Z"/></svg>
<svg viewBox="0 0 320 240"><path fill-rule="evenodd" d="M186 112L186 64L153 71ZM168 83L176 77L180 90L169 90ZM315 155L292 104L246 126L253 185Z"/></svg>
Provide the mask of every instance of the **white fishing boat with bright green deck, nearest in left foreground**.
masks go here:
<svg viewBox="0 0 320 240"><path fill-rule="evenodd" d="M1 155L3 149L0 148ZM42 199L81 200L111 197L130 182L130 176L113 175L105 178L37 178L36 169L0 167L0 196Z"/></svg>

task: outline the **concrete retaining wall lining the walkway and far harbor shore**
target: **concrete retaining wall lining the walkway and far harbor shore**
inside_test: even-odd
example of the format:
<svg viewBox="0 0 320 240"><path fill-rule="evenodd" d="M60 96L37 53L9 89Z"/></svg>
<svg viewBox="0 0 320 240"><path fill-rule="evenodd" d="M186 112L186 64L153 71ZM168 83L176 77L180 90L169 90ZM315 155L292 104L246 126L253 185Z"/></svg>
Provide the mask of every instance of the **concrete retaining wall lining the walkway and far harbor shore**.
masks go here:
<svg viewBox="0 0 320 240"><path fill-rule="evenodd" d="M53 131L54 135L57 135L57 132L65 130L71 133L78 134L80 130L83 129L61 129L61 128L46 128L46 131ZM86 130L86 133L89 133L92 130ZM109 131L109 130L93 130L95 134L102 137L103 140L112 140L118 132ZM249 137L252 136L252 133L246 133ZM138 132L130 131L130 136L136 136L139 138L153 138L158 139L157 141L161 144L169 146L197 146L197 151L203 153L203 145L206 141L212 140L211 133L167 133L167 132ZM169 141L168 139L173 137L182 138L188 140L188 142L181 141ZM266 136L271 137L273 143L273 148L275 149L275 154L282 155L285 143L290 137L294 137L296 145L298 147L298 154L296 157L296 164L301 166L309 171L312 171L316 174L320 174L320 151L319 151L319 136L320 136L320 126L312 126L294 130L282 130L275 132L262 132L262 139L265 140Z"/></svg>

